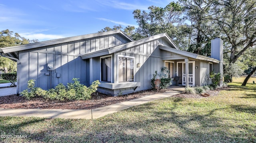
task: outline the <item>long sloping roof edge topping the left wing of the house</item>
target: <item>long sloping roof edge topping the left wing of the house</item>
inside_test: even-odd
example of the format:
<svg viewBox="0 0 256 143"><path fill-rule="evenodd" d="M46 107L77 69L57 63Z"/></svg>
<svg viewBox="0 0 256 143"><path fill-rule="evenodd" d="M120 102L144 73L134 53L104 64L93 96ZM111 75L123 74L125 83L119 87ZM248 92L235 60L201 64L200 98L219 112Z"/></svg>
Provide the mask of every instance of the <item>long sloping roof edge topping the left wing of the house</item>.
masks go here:
<svg viewBox="0 0 256 143"><path fill-rule="evenodd" d="M67 43L67 42L71 42L71 41L78 41L78 40L82 40L82 39L89 39L89 38L117 34L117 33L122 34L129 41L134 41L131 37L126 35L126 33L124 33L123 31L115 30L115 31L102 32L102 33L80 35L80 36L75 36L75 37L67 37L67 38L62 38L62 39L54 39L54 40L49 40L49 41L42 41L42 42L30 43L30 44L18 45L18 46L12 46L12 47L4 47L4 48L1 48L1 51L3 53L11 53L11 52L16 52L16 51L23 51L23 50L28 50L28 49L38 48L38 47L45 47L45 46L56 45L56 44L60 44L60 43Z"/></svg>

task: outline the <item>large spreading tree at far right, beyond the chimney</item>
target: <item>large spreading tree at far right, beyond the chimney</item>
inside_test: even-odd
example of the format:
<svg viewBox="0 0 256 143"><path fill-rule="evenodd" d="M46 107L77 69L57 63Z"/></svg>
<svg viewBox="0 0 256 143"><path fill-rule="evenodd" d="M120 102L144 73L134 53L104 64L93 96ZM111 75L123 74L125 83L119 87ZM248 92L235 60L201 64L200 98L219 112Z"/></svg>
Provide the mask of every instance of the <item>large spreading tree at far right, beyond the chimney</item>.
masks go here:
<svg viewBox="0 0 256 143"><path fill-rule="evenodd" d="M256 42L256 1L218 0L212 12L212 20L230 45L229 63L235 63Z"/></svg>

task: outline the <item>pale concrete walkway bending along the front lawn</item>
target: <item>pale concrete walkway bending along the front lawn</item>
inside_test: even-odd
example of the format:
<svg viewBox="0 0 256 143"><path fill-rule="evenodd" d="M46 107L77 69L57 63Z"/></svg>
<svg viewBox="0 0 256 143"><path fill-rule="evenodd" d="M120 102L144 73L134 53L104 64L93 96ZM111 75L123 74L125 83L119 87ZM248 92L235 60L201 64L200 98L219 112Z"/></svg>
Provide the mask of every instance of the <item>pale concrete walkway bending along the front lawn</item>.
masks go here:
<svg viewBox="0 0 256 143"><path fill-rule="evenodd" d="M136 98L134 100L112 104L109 106L92 110L70 110L70 109L3 109L0 108L0 116L34 116L42 118L66 118L66 119L96 119L107 114L126 110L130 107L144 104L150 101L166 98L179 94L178 91L154 94Z"/></svg>

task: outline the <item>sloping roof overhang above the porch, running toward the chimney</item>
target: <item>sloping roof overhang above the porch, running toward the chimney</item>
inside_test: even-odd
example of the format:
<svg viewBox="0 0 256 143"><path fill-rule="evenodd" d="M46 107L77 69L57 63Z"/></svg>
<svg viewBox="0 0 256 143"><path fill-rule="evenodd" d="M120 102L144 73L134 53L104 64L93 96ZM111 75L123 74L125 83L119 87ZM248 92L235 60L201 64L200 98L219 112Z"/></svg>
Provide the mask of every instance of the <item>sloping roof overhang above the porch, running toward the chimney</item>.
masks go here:
<svg viewBox="0 0 256 143"><path fill-rule="evenodd" d="M198 54L194 54L194 53L190 53L190 52L187 52L187 51L181 51L181 50L174 49L174 48L169 48L169 47L166 47L166 46L163 46L163 45L158 45L158 47L159 47L159 49L169 51L169 52L172 52L172 53L176 53L176 54L179 54L179 55L183 55L184 57L190 57L190 58L193 58L193 59L204 60L204 61L209 61L209 62L213 62L213 63L220 63L219 60L216 60L216 59L213 59L213 58L210 58L210 57L206 57L206 56L202 56L202 55L198 55Z"/></svg>

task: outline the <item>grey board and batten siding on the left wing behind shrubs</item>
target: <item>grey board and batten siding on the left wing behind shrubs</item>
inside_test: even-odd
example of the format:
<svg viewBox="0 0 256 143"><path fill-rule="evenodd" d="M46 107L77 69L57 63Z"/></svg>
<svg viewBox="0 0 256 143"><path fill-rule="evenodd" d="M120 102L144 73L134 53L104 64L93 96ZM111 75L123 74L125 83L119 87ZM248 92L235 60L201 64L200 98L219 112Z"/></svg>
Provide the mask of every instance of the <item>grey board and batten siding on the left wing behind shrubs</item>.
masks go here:
<svg viewBox="0 0 256 143"><path fill-rule="evenodd" d="M52 87L59 83L66 85L72 82L72 78L80 78L80 82L88 86L90 62L80 56L127 42L128 39L122 35L112 34L22 51L19 53L19 92L27 89L27 82L31 79L36 80L36 87L45 90L50 88L50 83ZM54 64L54 71L47 70L48 63ZM97 69L95 66L99 65L94 65ZM95 78L100 76L98 72L94 73ZM57 74L60 74L59 78Z"/></svg>

